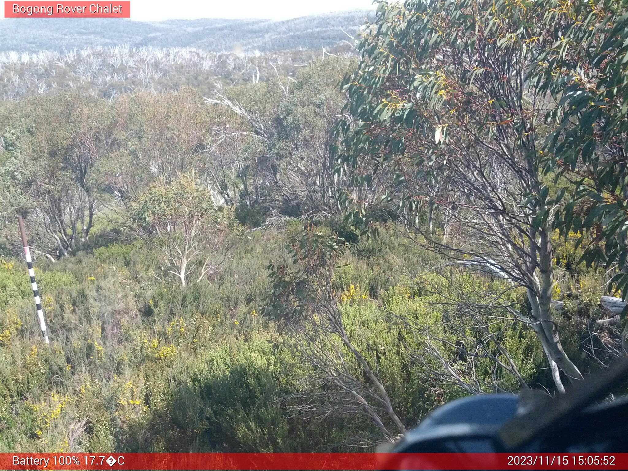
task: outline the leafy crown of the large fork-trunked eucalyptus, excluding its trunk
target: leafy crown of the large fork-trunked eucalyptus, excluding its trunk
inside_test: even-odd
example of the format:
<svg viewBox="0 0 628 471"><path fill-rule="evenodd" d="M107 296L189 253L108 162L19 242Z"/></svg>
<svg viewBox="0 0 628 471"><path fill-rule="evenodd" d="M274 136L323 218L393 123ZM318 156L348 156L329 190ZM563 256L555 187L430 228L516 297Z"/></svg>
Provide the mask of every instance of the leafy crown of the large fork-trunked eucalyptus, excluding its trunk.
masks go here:
<svg viewBox="0 0 628 471"><path fill-rule="evenodd" d="M442 188L455 178L451 168L475 158L488 165L502 141L507 159L529 161L534 178L534 148L545 132L531 106L534 90L504 77L526 73L542 12L538 2L509 0L379 3L359 45L360 65L343 81L350 118L335 128L336 172L371 192L344 193L352 224L370 230L374 221L401 217L420 225L428 212L447 212L453 202ZM489 180L491 171L483 169ZM547 217L538 208L547 188L535 183L521 200L538 227Z"/></svg>

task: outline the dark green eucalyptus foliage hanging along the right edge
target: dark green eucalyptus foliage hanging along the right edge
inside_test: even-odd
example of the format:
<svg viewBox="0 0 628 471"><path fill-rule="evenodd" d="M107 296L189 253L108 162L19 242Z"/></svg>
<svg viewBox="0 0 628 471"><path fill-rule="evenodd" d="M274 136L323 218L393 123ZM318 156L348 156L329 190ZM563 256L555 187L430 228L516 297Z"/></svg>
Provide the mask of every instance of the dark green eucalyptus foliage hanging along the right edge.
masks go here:
<svg viewBox="0 0 628 471"><path fill-rule="evenodd" d="M546 47L531 77L553 99L544 165L574 183L557 226L580 232L585 259L615 269L628 295L628 4L543 2ZM625 309L624 309L625 315Z"/></svg>

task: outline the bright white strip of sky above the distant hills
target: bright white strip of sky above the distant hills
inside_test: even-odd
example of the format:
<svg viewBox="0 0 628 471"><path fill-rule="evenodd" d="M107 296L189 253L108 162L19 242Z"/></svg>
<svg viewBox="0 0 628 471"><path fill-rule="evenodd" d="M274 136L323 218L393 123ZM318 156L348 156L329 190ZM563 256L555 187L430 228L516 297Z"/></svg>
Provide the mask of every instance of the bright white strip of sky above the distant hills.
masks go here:
<svg viewBox="0 0 628 471"><path fill-rule="evenodd" d="M372 0L131 0L131 19L264 18L374 9Z"/></svg>

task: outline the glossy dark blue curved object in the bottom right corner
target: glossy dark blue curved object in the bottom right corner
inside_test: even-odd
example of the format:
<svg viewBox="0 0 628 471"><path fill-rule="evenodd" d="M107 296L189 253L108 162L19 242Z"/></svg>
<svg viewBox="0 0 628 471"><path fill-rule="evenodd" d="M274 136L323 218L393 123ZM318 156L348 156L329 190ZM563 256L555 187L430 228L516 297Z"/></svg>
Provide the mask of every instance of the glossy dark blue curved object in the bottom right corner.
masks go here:
<svg viewBox="0 0 628 471"><path fill-rule="evenodd" d="M628 452L625 431L628 399L561 414L560 420L539 429L517 447L508 447L504 430L527 418L531 430L543 414L560 409L563 398L526 411L514 394L483 394L458 399L436 409L408 431L392 450L395 453L609 453Z"/></svg>

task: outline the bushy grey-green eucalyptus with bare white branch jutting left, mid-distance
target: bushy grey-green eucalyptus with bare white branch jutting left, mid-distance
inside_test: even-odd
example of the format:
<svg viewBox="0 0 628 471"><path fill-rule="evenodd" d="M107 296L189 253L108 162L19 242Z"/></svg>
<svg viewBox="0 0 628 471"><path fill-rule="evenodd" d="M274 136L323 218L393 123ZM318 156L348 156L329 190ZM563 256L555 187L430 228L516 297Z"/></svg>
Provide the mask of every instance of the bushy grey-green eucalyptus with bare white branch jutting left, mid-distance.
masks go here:
<svg viewBox="0 0 628 471"><path fill-rule="evenodd" d="M310 63L296 78L278 72L270 82L208 99L247 122L251 139L238 168L244 205L293 215L340 212L331 130L345 100L337 84L351 66L350 60L329 57Z"/></svg>

